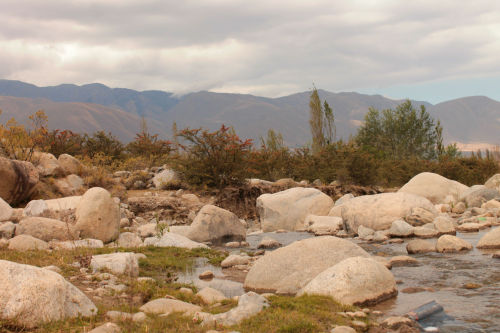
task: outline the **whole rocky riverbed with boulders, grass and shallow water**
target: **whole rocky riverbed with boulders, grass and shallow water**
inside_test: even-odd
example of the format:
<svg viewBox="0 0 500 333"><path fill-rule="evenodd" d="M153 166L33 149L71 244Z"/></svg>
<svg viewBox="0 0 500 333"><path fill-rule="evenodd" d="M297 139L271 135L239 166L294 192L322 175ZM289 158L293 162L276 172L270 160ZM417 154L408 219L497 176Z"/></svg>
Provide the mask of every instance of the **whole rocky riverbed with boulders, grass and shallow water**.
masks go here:
<svg viewBox="0 0 500 333"><path fill-rule="evenodd" d="M36 168L0 164L12 168L4 175L26 173L5 182L0 199L5 331L499 326L500 175L468 187L423 173L397 192L342 197L279 181L280 190L256 198L258 218L243 219L215 197L165 190L177 178L157 168L139 184L149 190L121 199L94 187L16 207L31 191L8 195L16 179L36 183L51 170L67 179L72 168L61 165L68 161L78 169L70 157L49 156ZM115 180L139 186L127 172ZM248 186L274 184L254 179ZM404 317L430 300L444 312L419 323Z"/></svg>

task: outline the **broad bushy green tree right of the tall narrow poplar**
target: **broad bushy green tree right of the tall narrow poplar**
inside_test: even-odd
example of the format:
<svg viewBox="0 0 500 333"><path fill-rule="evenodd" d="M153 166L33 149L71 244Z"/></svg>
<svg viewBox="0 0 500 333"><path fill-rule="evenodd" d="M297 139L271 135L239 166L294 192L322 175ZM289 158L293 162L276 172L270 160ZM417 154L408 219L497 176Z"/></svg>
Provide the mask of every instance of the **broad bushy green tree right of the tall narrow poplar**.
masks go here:
<svg viewBox="0 0 500 333"><path fill-rule="evenodd" d="M384 157L434 159L446 151L442 130L423 105L417 110L407 100L395 110L370 108L356 141L363 149Z"/></svg>

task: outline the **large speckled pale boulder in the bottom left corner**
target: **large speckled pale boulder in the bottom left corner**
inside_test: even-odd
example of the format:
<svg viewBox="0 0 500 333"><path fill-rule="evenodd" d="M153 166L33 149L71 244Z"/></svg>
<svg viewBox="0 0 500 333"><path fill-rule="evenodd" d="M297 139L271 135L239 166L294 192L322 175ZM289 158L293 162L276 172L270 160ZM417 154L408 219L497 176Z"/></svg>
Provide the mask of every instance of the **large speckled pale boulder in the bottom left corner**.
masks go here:
<svg viewBox="0 0 500 333"><path fill-rule="evenodd" d="M0 319L28 328L97 314L78 288L53 271L0 260Z"/></svg>

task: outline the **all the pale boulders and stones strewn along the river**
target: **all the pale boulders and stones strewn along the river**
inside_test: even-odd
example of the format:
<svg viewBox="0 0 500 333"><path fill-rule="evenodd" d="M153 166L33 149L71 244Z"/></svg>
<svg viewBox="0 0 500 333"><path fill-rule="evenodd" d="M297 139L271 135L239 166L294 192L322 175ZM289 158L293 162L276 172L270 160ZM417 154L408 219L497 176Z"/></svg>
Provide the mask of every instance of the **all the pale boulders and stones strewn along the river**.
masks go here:
<svg viewBox="0 0 500 333"><path fill-rule="evenodd" d="M81 196L34 200L23 209L12 208L11 204L29 198L39 175L67 178L80 172L81 165L71 156L55 159L49 155L39 155L36 167L0 158L0 176L12 179L0 192L0 248L26 251L104 246L129 249L248 246L245 221L182 190L167 195L130 197L127 203L122 203L107 190L94 187ZM151 182L148 180L145 187L169 188L177 181L166 168L148 172L148 177L152 174L148 178ZM115 177L129 179L132 175L119 172ZM457 237L457 232L500 225L499 189L500 175L485 185L467 187L436 174L422 173L398 192L358 197L347 194L335 202L320 190L306 187L264 194L257 199L261 231L307 231L318 237L284 247L264 238L259 248L277 249L260 250L252 257L228 256L221 264L224 269L247 273L244 288L248 292L238 298L237 307L212 315L202 312L197 305L166 297L147 302L138 313L115 311L108 313L108 317L141 321L148 314L184 312L210 327L230 326L264 309L268 302L259 295L263 293L318 294L331 296L343 304L375 304L398 293L390 267L414 259L399 257L386 261L371 256L346 237L357 236L368 242L412 237L415 239L406 246L409 254L470 250L472 245ZM151 212L155 212L154 216L148 216ZM161 219L163 213L159 212L170 217L177 214L190 223L175 225L178 223L173 220ZM500 249L500 228L487 232L476 247ZM123 291L125 286L115 276L149 279L137 278L140 256L132 252L92 256L91 272L82 272L88 279L102 280L102 287L88 292L99 297L109 289ZM27 327L96 312L84 293L49 268L0 261L0 286L0 319L15 319ZM212 288L204 288L197 296L204 304L226 299Z"/></svg>

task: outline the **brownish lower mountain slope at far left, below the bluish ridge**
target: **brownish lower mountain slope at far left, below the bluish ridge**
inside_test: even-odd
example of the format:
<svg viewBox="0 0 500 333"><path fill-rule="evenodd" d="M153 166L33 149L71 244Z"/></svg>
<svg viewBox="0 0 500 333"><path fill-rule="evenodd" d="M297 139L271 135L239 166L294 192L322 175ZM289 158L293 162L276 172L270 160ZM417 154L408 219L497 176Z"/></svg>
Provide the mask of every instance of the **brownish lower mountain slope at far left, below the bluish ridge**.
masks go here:
<svg viewBox="0 0 500 333"><path fill-rule="evenodd" d="M69 129L92 134L97 130L112 132L120 140L128 142L139 131L141 118L117 108L90 103L53 102L47 99L0 96L0 121L5 123L14 117L28 123L28 117L44 110L51 129ZM161 132L161 124L148 120L152 131Z"/></svg>

